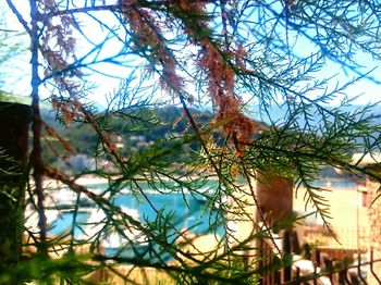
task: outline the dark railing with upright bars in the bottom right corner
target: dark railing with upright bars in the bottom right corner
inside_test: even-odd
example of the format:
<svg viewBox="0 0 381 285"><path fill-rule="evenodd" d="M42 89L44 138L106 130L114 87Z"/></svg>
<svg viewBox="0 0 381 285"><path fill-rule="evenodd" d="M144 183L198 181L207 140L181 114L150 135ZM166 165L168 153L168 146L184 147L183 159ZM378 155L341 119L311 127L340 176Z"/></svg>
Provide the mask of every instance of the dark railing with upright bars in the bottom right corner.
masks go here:
<svg viewBox="0 0 381 285"><path fill-rule="evenodd" d="M274 253L273 247L268 240L261 240L260 273L262 285L294 285L294 284L381 284L381 272L374 270L374 264L381 264L381 259L373 258L373 250L370 250L370 260L362 261L366 255L358 253L357 259L344 257L343 260L323 258L321 261L320 250L315 250L312 260L299 259L291 261L295 252L293 234L284 234L283 258ZM302 263L303 265L299 265ZM307 265L307 267L306 267Z"/></svg>

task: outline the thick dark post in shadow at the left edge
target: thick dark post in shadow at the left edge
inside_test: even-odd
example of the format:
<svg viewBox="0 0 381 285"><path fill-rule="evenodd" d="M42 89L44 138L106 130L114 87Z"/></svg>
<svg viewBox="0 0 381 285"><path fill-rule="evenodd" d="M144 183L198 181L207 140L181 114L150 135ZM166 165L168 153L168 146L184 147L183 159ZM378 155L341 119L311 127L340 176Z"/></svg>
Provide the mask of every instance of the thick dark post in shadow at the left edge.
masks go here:
<svg viewBox="0 0 381 285"><path fill-rule="evenodd" d="M0 264L5 267L21 257L29 121L28 106L0 102Z"/></svg>

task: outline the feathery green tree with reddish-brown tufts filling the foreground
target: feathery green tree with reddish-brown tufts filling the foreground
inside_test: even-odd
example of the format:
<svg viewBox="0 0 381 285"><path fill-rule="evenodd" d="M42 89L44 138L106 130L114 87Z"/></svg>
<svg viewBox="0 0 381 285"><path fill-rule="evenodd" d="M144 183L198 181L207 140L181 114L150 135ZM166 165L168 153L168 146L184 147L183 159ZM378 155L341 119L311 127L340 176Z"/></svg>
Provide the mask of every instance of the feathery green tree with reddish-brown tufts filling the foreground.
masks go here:
<svg viewBox="0 0 381 285"><path fill-rule="evenodd" d="M327 227L324 189L311 183L321 166L380 179L351 157L355 150L379 151L376 107L353 111L353 99L345 96L359 80L378 84L372 66L364 67L360 61L364 57L371 59L367 62L380 60L377 1L27 2L29 12L24 14L19 1L7 0L30 44L33 136L27 191L38 213L38 230L25 228L27 259L1 264L0 283L21 276L72 284L105 269L134 282L138 268L164 272L179 284L253 284L263 270L258 269L255 240L271 239L272 233L256 195L261 175L293 179ZM340 66L353 79L340 83L325 76L331 66ZM102 79L91 82L94 74ZM120 88L108 91L106 108L97 107L91 101L96 100L91 90L97 89L91 85L115 78ZM91 174L108 179L105 193L78 183L76 178L88 173L73 177L45 161L47 148L63 160L75 149L44 122L42 99L65 127L87 125L96 134L98 168ZM125 122L131 136L123 139L128 140L137 131L159 127L163 122L152 108L168 104L182 108L187 126L137 151L122 152L112 120ZM255 112L253 104L259 106ZM205 106L213 114L207 123L194 111ZM284 111L280 117L272 115L275 107ZM179 122L172 122L173 129ZM105 160L112 163L111 169L101 166ZM77 195L71 231L57 237L49 234L47 178ZM148 203L155 218L142 213L144 219L136 219L116 205L115 197L125 189ZM198 248L192 231L180 226L181 213L158 209L150 190L162 197L182 194L186 207L189 201L206 200L205 234L216 236L216 248L210 252ZM85 227L78 220L81 197L102 216L94 226L96 233L86 238L76 234ZM291 216L276 226L288 227L293 221ZM249 225L247 235L234 231L238 224ZM223 234L218 234L219 228ZM138 234L131 238L127 232ZM113 233L124 240L115 255L102 248ZM81 253L87 247L86 255ZM123 253L127 249L132 256ZM248 252L248 259L243 252ZM287 258L281 255L279 265ZM244 259L246 265L242 265Z"/></svg>

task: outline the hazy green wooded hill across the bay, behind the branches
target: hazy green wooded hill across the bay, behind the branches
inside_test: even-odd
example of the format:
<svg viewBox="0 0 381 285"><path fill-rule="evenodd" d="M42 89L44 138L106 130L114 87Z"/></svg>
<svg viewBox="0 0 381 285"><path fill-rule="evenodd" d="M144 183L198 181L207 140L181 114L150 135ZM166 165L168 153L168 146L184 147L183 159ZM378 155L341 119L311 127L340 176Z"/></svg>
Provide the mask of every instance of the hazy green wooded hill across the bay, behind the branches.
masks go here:
<svg viewBox="0 0 381 285"><path fill-rule="evenodd" d="M192 110L195 120L201 124L211 119L210 112ZM100 141L94 128L85 122L74 122L70 126L60 123L57 113L42 109L44 121L54 129L54 135L47 134L45 148L46 159L49 162L56 160L57 153L67 152L62 146L65 139L75 153L83 153L88 157L99 154ZM132 151L140 150L152 145L159 139L176 136L189 128L188 120L183 110L177 107L165 108L139 108L120 111L118 113L102 113L95 116L103 134L109 136L118 146L123 145L120 151L130 154ZM51 132L50 132L51 133ZM187 146L189 147L189 145ZM56 148L53 151L52 149ZM197 148L196 144L190 144L190 148ZM57 152L57 153L54 153ZM100 151L101 152L101 151ZM67 156L74 153L65 153Z"/></svg>

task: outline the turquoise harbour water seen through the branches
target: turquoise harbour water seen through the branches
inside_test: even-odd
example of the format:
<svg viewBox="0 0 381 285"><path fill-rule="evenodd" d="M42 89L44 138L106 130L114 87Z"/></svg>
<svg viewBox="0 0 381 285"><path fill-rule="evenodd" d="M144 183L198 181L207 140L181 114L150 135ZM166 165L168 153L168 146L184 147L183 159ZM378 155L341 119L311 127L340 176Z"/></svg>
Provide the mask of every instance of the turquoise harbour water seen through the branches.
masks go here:
<svg viewBox="0 0 381 285"><path fill-rule="evenodd" d="M101 187L102 188L102 187ZM138 219L140 222L147 221L153 222L157 219L157 211L162 210L163 215L172 214L171 224L177 231L188 230L189 234L202 235L208 233L217 234L222 237L224 230L223 226L217 226L213 232L210 231L210 223L214 221L217 216L217 210L209 209L206 211L206 205L201 200L196 199L190 194L183 193L147 193L149 203L145 199L136 199L132 194L119 194L112 198L112 202L115 206L124 207L128 209L135 209L138 212ZM152 208L153 206L153 208ZM76 225L74 226L74 237L79 238L86 231L86 222L90 218L90 213L87 209L79 209L76 213ZM157 211L156 211L157 210ZM62 235L69 233L73 226L73 211L63 211L60 216L53 222L49 233L51 235ZM168 240L174 241L176 235L173 235L174 230L169 228ZM148 241L143 244L131 244L128 247L105 248L107 256L122 256L123 258L134 259L137 255L144 259L150 261L170 261L173 260L173 256L155 243ZM155 252L155 253L152 253ZM159 255L156 252L160 252Z"/></svg>

